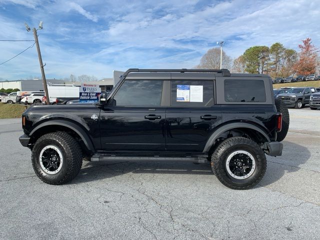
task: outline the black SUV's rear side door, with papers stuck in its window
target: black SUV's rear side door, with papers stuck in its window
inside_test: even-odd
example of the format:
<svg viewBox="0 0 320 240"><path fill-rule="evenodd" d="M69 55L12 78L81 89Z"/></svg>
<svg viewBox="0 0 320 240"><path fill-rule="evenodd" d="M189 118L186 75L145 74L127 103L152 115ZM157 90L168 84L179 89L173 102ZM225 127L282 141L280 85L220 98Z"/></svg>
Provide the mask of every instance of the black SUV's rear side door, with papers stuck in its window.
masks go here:
<svg viewBox="0 0 320 240"><path fill-rule="evenodd" d="M214 127L221 122L221 109L214 105L213 89L212 73L171 73L171 105L166 110L166 151L203 151Z"/></svg>

